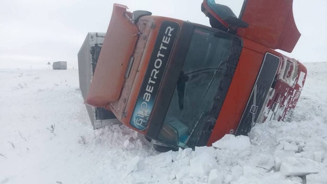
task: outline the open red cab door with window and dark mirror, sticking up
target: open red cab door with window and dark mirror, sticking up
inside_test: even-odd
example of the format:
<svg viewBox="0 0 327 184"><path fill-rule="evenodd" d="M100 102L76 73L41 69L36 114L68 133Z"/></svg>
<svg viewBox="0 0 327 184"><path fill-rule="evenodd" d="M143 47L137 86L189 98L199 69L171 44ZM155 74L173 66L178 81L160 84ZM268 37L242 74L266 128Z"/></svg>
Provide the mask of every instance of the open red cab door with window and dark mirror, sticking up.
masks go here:
<svg viewBox="0 0 327 184"><path fill-rule="evenodd" d="M301 36L293 17L293 0L244 0L238 18L234 14L238 12L231 12L224 2L204 0L202 11L240 37L272 49L293 51Z"/></svg>

